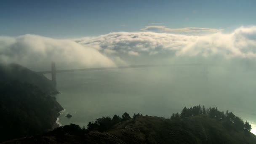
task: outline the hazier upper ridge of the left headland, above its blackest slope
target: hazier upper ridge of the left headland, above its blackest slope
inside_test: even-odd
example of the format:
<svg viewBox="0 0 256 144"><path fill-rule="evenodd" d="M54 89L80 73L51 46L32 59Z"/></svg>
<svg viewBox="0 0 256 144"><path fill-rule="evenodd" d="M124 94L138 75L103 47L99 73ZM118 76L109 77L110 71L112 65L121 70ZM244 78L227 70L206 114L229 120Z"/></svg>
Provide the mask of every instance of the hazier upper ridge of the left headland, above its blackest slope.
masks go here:
<svg viewBox="0 0 256 144"><path fill-rule="evenodd" d="M48 80L43 74L34 72L19 64L0 64L0 80L2 83L17 80L36 85L42 91L49 94L59 93L51 80Z"/></svg>

